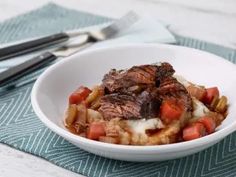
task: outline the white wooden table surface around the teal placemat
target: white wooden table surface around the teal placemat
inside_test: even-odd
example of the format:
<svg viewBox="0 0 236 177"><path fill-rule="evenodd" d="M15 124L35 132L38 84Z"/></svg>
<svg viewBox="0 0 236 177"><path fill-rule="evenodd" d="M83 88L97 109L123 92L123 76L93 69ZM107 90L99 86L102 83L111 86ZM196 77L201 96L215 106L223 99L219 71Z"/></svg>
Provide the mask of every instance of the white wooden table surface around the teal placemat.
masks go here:
<svg viewBox="0 0 236 177"><path fill-rule="evenodd" d="M37 8L49 0L0 0L0 21ZM169 29L236 48L235 0L53 0L60 5L109 17L128 10L158 18ZM0 34L1 35L1 34ZM41 158L0 144L0 177L79 177Z"/></svg>

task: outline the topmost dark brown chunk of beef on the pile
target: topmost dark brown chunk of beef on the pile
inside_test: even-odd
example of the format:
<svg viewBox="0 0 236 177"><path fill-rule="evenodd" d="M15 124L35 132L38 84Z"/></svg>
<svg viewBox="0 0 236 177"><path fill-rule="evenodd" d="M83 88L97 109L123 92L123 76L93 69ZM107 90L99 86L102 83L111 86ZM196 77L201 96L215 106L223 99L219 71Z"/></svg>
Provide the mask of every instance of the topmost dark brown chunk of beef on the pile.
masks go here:
<svg viewBox="0 0 236 177"><path fill-rule="evenodd" d="M103 86L109 93L140 84L155 86L156 83L159 84L162 78L171 76L174 72L169 63L133 66L128 70L120 71L112 69L104 76Z"/></svg>

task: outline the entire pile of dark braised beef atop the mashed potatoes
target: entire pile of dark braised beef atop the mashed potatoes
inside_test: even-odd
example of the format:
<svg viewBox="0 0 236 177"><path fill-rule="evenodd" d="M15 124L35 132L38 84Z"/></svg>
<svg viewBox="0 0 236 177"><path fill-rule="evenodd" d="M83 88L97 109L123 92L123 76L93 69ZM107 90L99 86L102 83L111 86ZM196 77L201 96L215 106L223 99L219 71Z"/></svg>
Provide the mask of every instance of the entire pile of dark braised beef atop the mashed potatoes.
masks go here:
<svg viewBox="0 0 236 177"><path fill-rule="evenodd" d="M174 98L186 111L192 110L191 97L174 77L169 63L111 70L104 76L105 95L98 109L106 120L141 119L159 116L163 100Z"/></svg>

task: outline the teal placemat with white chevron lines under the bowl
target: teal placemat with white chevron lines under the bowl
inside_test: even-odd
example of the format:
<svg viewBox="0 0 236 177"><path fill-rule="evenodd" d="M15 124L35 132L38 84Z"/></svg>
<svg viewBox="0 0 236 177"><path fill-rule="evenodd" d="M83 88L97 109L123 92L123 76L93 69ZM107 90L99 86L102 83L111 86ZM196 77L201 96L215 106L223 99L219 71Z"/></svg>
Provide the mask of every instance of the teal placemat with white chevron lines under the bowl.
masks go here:
<svg viewBox="0 0 236 177"><path fill-rule="evenodd" d="M95 25L108 20L49 4L1 23L0 43ZM206 50L236 63L235 50L178 35L176 39L178 45ZM39 121L30 103L32 85L33 83L26 84L0 96L0 142L86 176L236 176L236 133L205 151L164 162L123 162L83 151Z"/></svg>

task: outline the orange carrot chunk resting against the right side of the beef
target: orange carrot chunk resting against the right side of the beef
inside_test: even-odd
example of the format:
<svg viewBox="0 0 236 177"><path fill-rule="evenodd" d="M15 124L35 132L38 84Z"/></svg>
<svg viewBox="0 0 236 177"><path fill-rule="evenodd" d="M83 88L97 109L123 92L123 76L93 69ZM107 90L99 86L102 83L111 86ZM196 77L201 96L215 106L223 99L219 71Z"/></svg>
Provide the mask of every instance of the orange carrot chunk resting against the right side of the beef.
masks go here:
<svg viewBox="0 0 236 177"><path fill-rule="evenodd" d="M162 102L160 112L161 119L169 123L172 120L178 120L183 113L183 109L176 101L165 100Z"/></svg>

